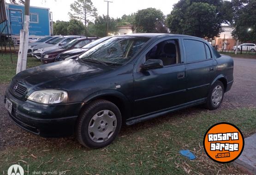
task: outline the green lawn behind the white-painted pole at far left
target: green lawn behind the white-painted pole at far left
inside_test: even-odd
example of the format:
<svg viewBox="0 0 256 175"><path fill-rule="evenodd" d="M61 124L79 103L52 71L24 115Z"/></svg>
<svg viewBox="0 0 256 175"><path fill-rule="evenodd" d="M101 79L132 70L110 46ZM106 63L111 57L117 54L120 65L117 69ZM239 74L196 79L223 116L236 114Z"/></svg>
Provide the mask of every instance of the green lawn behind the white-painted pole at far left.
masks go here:
<svg viewBox="0 0 256 175"><path fill-rule="evenodd" d="M0 53L0 71L1 71L0 83L1 84L9 83L12 77L16 74L18 55L12 54L12 60L13 60L13 63L11 62L11 54ZM41 64L42 62L40 62L40 60L37 60L34 57L29 56L27 59L27 68L33 68Z"/></svg>

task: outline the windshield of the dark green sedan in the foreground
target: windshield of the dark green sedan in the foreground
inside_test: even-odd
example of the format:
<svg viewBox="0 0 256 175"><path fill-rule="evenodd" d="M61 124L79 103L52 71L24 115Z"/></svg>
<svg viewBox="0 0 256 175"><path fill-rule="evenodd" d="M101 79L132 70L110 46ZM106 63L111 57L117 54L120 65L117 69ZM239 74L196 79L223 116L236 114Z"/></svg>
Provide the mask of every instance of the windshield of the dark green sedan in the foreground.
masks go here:
<svg viewBox="0 0 256 175"><path fill-rule="evenodd" d="M79 60L123 65L149 40L146 37L113 37L86 51Z"/></svg>

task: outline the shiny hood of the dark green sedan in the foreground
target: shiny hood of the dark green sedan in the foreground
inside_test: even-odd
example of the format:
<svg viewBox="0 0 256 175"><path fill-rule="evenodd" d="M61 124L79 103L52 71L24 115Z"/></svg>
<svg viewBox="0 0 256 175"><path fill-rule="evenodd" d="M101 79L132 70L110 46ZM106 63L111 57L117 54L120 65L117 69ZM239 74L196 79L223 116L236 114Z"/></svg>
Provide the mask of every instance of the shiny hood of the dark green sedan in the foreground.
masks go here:
<svg viewBox="0 0 256 175"><path fill-rule="evenodd" d="M68 60L37 66L18 73L13 79L27 88L59 88L74 81L86 79L113 70L97 63Z"/></svg>

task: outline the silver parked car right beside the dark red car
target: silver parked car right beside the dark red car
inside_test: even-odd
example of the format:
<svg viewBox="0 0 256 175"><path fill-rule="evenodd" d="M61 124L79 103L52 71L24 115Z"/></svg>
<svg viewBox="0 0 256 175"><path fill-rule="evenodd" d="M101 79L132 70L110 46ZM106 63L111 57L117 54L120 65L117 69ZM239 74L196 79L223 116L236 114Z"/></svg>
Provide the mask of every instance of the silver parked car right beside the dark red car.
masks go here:
<svg viewBox="0 0 256 175"><path fill-rule="evenodd" d="M61 36L48 43L37 45L36 47L33 48L32 56L36 57L37 59L41 59L43 52L57 49L61 45L65 45L70 41L76 38L81 38L81 37L84 37L84 36Z"/></svg>

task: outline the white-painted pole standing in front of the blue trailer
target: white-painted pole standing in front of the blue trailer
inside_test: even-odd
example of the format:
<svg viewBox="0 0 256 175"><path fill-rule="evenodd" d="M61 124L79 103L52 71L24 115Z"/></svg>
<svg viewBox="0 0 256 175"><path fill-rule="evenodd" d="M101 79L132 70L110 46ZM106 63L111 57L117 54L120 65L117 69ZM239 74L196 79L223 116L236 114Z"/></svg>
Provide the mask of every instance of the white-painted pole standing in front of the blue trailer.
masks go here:
<svg viewBox="0 0 256 175"><path fill-rule="evenodd" d="M19 51L16 74L25 70L29 46L30 0L25 0L24 29L20 30Z"/></svg>

